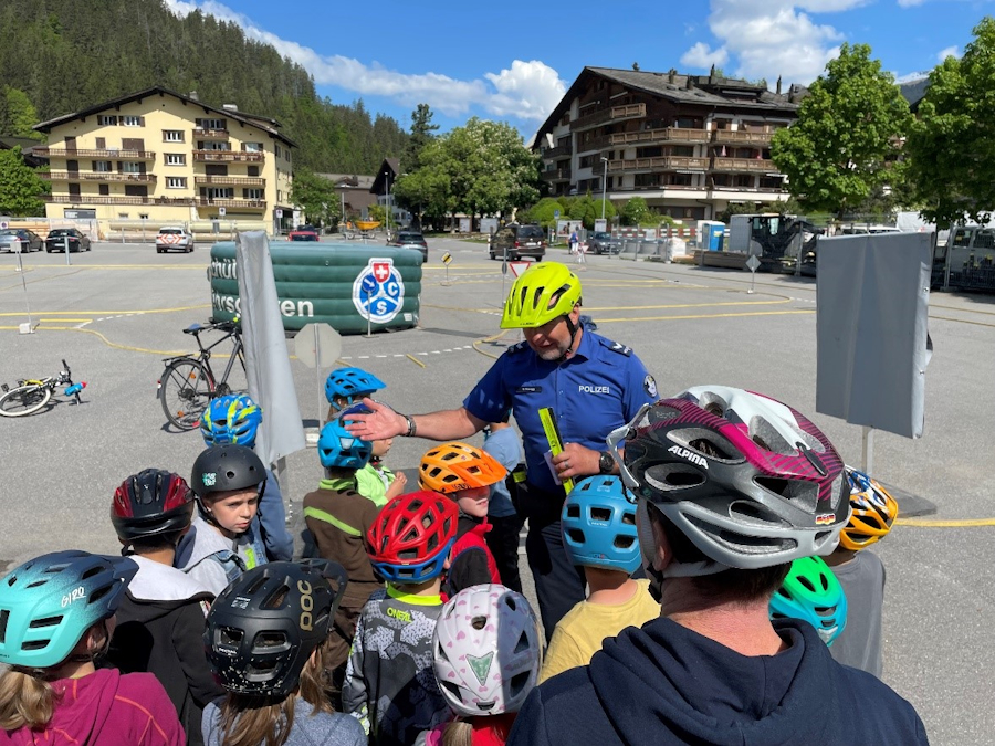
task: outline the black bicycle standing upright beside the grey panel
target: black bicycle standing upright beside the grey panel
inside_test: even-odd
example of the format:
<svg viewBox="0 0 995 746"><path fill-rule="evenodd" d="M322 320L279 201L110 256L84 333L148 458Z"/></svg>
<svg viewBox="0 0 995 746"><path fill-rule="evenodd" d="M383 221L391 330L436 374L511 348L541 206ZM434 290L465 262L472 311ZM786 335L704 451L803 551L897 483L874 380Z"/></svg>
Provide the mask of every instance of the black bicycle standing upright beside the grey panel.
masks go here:
<svg viewBox="0 0 995 746"><path fill-rule="evenodd" d="M205 347L200 334L213 330L224 332L224 336ZM158 397L170 423L180 430L193 430L200 423L200 417L211 399L231 393L228 377L235 360L241 363L242 370L245 370L245 357L242 353L242 333L238 318L217 324L191 324L184 329L184 334L193 336L200 351L196 355L164 358L166 369L159 377ZM218 378L211 368L211 350L228 339L233 340L234 347L224 366L224 372Z"/></svg>

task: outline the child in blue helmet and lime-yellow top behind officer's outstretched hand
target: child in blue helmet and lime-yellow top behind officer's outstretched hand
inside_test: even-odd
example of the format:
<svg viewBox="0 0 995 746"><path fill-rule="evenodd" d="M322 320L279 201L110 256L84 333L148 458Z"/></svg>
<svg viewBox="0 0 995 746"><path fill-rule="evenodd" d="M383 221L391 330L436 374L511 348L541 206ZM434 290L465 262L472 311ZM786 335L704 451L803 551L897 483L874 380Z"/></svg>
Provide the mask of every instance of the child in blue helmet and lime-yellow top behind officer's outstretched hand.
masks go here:
<svg viewBox="0 0 995 746"><path fill-rule="evenodd" d="M325 380L325 398L328 400L328 420L359 404L364 397L371 397L387 385L363 368L336 368ZM362 406L362 404L360 404ZM392 438L373 441L369 462L356 472L356 491L384 507L388 500L405 491L408 479L402 472L395 474L384 465L384 456L394 444Z"/></svg>

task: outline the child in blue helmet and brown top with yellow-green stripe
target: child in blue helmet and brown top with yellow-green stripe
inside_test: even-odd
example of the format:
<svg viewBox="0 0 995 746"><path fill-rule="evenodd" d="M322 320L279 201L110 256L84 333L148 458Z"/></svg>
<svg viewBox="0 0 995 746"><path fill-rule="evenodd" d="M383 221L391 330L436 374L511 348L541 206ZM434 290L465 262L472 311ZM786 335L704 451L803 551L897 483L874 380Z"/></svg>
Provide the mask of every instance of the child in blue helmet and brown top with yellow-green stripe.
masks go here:
<svg viewBox="0 0 995 746"><path fill-rule="evenodd" d="M369 462L373 443L347 432L346 422L334 419L322 428L317 452L325 479L304 496L304 523L310 534L305 544L313 543L314 554L342 565L349 580L331 631L327 660L336 690L345 675L363 605L384 587L369 564L363 538L379 508L356 491L356 472Z"/></svg>

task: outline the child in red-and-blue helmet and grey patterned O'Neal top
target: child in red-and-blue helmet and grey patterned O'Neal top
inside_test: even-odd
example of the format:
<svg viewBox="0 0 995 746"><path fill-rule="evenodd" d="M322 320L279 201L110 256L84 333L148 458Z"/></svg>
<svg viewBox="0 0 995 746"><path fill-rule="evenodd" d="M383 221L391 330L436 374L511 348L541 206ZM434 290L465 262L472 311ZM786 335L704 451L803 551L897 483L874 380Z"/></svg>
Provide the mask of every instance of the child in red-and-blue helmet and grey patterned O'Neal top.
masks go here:
<svg viewBox="0 0 995 746"><path fill-rule="evenodd" d="M367 532L369 560L387 588L359 614L342 705L379 746L412 744L448 717L432 673L432 632L458 519L452 501L415 492L389 501Z"/></svg>

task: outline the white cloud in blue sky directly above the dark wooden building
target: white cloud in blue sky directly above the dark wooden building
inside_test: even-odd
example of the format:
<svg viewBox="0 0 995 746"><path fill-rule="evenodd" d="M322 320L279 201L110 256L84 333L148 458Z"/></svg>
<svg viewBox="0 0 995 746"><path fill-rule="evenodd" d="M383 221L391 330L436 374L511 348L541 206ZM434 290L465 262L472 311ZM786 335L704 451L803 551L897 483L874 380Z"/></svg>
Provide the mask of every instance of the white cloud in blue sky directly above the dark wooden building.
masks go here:
<svg viewBox="0 0 995 746"><path fill-rule="evenodd" d="M709 28L722 43L711 52L735 59L736 75L793 83L810 83L839 54L844 35L816 23L810 13L851 10L870 0L711 0ZM681 62L692 64L692 46ZM711 63L710 63L711 64Z"/></svg>

